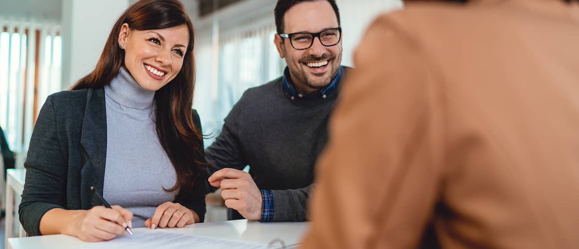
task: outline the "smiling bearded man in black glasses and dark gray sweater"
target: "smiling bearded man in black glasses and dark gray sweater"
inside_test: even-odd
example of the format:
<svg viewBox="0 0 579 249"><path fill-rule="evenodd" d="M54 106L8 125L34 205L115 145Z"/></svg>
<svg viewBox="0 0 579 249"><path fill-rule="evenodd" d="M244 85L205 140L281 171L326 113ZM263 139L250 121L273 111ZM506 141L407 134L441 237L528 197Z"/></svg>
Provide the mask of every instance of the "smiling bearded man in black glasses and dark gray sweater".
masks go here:
<svg viewBox="0 0 579 249"><path fill-rule="evenodd" d="M208 180L222 189L225 206L239 211L231 218L305 221L314 163L347 70L340 66L340 17L335 0L279 0L274 15L274 43L287 68L245 91L225 118L206 150Z"/></svg>

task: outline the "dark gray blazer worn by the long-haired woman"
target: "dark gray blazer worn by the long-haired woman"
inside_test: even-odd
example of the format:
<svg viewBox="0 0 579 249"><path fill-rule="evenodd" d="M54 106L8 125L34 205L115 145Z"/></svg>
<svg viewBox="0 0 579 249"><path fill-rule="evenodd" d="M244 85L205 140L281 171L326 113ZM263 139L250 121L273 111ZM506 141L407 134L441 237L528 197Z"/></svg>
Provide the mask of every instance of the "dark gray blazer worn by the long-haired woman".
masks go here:
<svg viewBox="0 0 579 249"><path fill-rule="evenodd" d="M196 111L193 121L201 131ZM90 186L102 189L106 155L104 89L50 95L36 121L24 163L26 182L19 209L24 230L40 235L40 220L50 209L87 210L102 205ZM204 155L199 153L197 160L204 162ZM206 211L206 181L206 174L197 176L193 193L175 200L199 214L201 221Z"/></svg>

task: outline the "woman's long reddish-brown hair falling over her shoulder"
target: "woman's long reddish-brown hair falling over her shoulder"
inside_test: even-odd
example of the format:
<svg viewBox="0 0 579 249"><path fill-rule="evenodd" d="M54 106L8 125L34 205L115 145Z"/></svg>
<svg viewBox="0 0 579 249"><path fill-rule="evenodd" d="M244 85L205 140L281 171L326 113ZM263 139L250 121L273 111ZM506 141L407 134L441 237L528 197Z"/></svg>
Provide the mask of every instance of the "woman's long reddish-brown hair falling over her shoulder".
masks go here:
<svg viewBox="0 0 579 249"><path fill-rule="evenodd" d="M176 27L185 24L189 43L181 71L175 79L155 93L156 130L159 142L177 173L177 184L167 191L179 189L177 198L186 198L193 190L193 179L203 170L196 160L202 153L202 139L193 124L192 105L195 88L195 57L193 55L193 25L178 0L141 0L129 6L119 17L109 34L107 43L93 72L80 79L71 90L102 88L109 84L124 65L124 50L119 48L118 36L122 25L130 29L148 30ZM204 183L199 183L204 184Z"/></svg>

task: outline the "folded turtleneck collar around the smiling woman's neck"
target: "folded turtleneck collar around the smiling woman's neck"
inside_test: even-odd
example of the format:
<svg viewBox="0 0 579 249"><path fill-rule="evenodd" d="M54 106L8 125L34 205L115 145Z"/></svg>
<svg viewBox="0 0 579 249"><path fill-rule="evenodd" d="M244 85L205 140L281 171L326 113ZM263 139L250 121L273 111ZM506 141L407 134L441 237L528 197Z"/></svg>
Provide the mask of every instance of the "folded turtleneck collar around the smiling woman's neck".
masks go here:
<svg viewBox="0 0 579 249"><path fill-rule="evenodd" d="M151 108L155 101L155 91L142 88L123 66L111 84L105 85L105 93L119 105L138 110Z"/></svg>

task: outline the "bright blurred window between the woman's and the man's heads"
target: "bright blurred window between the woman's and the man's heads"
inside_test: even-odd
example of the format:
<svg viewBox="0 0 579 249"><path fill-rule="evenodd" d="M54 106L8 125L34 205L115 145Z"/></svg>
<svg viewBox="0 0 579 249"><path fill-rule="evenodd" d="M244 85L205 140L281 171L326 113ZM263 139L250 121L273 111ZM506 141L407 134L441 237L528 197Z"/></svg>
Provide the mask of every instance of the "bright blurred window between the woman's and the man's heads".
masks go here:
<svg viewBox="0 0 579 249"><path fill-rule="evenodd" d="M221 131L223 118L247 88L260 86L281 76L285 61L279 57L273 44L274 34L274 25L267 24L247 32L229 34L220 40L217 50L219 60L215 64L218 73L215 76L211 75L211 70L205 69L208 64L213 65L209 62L215 58L212 57L214 53L207 51L211 46L199 46L195 106L199 106L196 108L205 135L217 135ZM212 77L217 77L217 81L212 81ZM217 94L209 94L211 88L216 88ZM212 142L210 136L205 145L209 146Z"/></svg>

